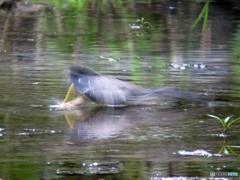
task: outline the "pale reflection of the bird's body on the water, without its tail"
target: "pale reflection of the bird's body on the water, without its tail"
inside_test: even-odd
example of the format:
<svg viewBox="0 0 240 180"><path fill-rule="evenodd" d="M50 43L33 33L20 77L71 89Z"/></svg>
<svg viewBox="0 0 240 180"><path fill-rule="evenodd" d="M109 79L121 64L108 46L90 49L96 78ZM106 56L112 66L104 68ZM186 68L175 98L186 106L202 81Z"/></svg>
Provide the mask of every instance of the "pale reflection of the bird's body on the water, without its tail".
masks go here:
<svg viewBox="0 0 240 180"><path fill-rule="evenodd" d="M75 115L65 114L71 127L71 141L74 142L113 138L124 129L130 128L133 124L131 121L141 116L136 108L98 107L90 111L81 109L74 113Z"/></svg>

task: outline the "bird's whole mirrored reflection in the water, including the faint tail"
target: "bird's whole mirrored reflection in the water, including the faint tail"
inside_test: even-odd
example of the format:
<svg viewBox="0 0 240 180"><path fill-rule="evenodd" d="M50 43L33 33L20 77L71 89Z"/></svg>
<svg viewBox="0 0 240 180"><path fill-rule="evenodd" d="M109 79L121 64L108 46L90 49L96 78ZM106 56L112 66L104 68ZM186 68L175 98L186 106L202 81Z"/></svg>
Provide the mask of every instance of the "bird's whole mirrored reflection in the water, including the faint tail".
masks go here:
<svg viewBox="0 0 240 180"><path fill-rule="evenodd" d="M204 108L203 108L204 109ZM199 107L189 109L163 109L158 106L137 106L106 108L92 110L68 111L65 114L70 126L71 143L106 140L128 133L139 125L160 121L176 121L186 116L200 113Z"/></svg>

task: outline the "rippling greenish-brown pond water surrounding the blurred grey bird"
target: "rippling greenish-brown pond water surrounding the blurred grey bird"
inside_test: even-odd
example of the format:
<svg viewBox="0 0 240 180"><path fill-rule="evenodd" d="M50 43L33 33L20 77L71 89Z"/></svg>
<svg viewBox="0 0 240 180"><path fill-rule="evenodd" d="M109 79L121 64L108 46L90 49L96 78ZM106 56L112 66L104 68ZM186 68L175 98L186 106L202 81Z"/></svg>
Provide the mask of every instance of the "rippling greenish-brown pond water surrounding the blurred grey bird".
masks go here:
<svg viewBox="0 0 240 180"><path fill-rule="evenodd" d="M0 179L240 174L240 123L224 133L208 116L240 116L238 6L210 2L202 31L203 21L191 26L205 2L39 2L0 12ZM71 84L72 64L212 103L52 109Z"/></svg>

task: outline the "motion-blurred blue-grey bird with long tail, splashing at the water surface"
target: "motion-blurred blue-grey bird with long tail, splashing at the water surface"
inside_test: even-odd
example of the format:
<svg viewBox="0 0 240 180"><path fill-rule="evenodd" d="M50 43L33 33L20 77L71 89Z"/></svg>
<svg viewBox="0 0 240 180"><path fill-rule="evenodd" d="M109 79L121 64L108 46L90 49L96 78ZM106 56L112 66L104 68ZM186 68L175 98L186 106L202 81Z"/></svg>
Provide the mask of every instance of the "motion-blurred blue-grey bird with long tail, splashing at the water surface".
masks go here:
<svg viewBox="0 0 240 180"><path fill-rule="evenodd" d="M196 93L181 91L173 87L144 88L102 75L82 65L72 65L67 72L78 97L63 103L63 108L83 106L87 101L108 107L156 105L158 102L182 100L208 102Z"/></svg>

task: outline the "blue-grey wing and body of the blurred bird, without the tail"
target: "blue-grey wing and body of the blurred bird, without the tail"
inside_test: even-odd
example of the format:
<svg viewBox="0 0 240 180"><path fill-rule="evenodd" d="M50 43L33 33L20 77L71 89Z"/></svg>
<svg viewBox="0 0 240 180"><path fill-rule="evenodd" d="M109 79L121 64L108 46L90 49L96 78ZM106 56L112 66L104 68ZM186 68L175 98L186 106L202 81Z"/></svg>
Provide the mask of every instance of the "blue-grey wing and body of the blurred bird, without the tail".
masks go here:
<svg viewBox="0 0 240 180"><path fill-rule="evenodd" d="M95 71L74 66L69 69L69 75L75 89L86 98L107 106L129 105L129 98L135 96L139 87L112 78L103 76Z"/></svg>

